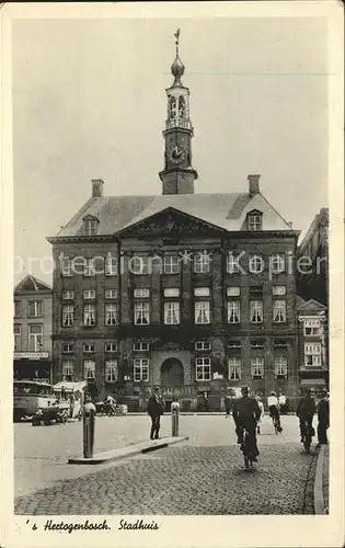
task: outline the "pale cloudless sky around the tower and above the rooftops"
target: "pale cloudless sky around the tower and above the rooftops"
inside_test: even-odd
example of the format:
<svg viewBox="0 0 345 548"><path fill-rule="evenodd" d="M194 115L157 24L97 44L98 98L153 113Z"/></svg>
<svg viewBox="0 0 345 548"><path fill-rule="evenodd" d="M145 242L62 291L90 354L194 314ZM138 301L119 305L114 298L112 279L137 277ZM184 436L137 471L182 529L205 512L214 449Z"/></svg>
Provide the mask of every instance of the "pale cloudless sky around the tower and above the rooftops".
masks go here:
<svg viewBox="0 0 345 548"><path fill-rule="evenodd" d="M297 230L327 206L327 36L312 18L22 20L12 27L14 283L51 283L55 236L91 196L161 194L181 28L196 193L248 174Z"/></svg>

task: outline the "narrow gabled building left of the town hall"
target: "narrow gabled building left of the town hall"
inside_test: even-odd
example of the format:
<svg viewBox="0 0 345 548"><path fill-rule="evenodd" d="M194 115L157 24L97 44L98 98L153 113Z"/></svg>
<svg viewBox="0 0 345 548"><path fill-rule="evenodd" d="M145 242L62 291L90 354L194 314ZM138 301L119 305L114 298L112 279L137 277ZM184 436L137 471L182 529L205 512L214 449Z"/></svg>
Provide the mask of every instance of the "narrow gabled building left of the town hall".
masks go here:
<svg viewBox="0 0 345 548"><path fill-rule="evenodd" d="M51 293L31 275L14 288L15 379L51 380Z"/></svg>

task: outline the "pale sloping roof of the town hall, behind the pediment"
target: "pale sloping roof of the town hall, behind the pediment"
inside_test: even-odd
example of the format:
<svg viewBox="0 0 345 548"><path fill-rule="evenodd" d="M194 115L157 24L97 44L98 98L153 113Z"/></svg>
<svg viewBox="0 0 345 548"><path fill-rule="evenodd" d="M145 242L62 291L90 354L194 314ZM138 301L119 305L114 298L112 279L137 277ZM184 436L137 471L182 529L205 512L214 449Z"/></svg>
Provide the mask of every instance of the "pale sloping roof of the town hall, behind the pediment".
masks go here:
<svg viewBox="0 0 345 548"><path fill-rule="evenodd" d="M263 213L263 230L292 230L262 194L174 194L90 198L57 236L81 236L87 215L99 219L97 235L110 236L168 207L230 231L244 229L246 214L258 209Z"/></svg>

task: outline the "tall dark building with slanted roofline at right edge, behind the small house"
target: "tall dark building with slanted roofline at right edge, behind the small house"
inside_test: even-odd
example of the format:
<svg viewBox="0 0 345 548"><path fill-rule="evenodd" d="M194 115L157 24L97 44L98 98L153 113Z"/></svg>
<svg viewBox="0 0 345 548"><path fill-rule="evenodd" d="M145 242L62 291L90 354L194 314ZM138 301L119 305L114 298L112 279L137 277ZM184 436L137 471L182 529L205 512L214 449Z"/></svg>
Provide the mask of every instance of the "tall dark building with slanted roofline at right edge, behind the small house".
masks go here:
<svg viewBox="0 0 345 548"><path fill-rule="evenodd" d="M320 209L301 239L298 258L301 264L297 282L298 294L306 300L315 299L329 307L329 209L326 207Z"/></svg>

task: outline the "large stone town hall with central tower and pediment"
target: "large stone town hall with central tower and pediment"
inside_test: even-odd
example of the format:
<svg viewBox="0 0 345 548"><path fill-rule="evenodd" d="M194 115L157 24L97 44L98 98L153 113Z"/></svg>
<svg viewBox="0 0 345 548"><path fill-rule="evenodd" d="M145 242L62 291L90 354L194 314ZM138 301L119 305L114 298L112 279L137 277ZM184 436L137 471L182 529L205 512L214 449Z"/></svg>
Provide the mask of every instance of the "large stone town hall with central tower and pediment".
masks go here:
<svg viewBox="0 0 345 548"><path fill-rule="evenodd" d="M176 48L177 49L177 48ZM195 194L189 90L176 50L166 90L160 196L92 196L48 238L56 380L143 407L160 385L182 409L221 406L226 386L299 391L299 232L249 175L242 193ZM210 182L211 184L211 182Z"/></svg>

